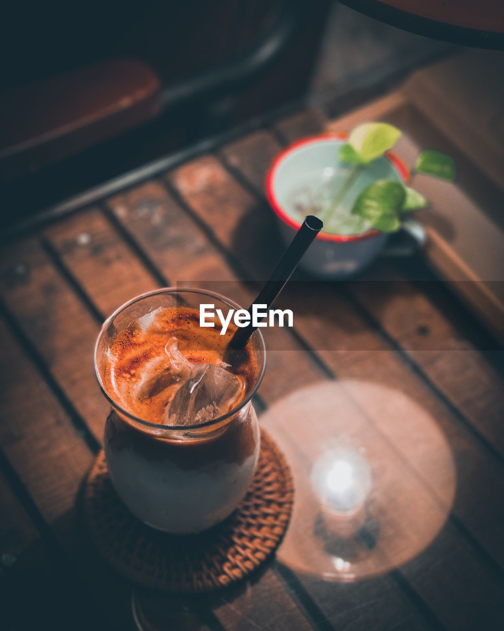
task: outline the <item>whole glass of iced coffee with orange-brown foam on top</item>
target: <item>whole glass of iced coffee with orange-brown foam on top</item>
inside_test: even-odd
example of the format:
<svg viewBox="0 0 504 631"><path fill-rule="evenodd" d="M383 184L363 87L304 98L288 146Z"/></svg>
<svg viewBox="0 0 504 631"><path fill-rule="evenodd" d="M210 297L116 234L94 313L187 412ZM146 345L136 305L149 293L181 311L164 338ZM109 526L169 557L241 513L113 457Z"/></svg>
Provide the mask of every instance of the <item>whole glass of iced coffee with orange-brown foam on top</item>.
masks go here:
<svg viewBox="0 0 504 631"><path fill-rule="evenodd" d="M240 307L213 292L167 288L133 298L103 324L95 348L112 404L105 456L123 503L169 533L197 533L244 498L260 446L251 398L265 369L256 331L229 353L236 331L200 327L200 305Z"/></svg>

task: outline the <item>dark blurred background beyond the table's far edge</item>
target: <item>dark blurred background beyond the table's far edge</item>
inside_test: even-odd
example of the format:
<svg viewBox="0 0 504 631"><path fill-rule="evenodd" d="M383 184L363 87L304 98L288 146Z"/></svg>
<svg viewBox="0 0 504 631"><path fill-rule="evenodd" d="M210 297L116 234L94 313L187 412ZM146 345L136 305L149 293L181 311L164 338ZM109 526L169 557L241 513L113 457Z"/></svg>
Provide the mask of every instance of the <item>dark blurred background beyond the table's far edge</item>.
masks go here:
<svg viewBox="0 0 504 631"><path fill-rule="evenodd" d="M330 0L9 3L2 21L4 225L306 103L338 114L455 48Z"/></svg>

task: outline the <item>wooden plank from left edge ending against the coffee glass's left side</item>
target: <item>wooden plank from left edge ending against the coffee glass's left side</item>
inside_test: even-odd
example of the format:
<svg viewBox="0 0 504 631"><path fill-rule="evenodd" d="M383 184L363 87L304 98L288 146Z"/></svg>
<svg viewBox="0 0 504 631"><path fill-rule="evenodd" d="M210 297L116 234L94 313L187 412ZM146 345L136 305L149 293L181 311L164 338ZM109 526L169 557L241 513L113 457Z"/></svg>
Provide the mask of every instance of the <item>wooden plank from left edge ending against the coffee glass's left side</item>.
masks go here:
<svg viewBox="0 0 504 631"><path fill-rule="evenodd" d="M108 404L93 371L100 324L36 239L4 249L0 295L50 374L101 442Z"/></svg>

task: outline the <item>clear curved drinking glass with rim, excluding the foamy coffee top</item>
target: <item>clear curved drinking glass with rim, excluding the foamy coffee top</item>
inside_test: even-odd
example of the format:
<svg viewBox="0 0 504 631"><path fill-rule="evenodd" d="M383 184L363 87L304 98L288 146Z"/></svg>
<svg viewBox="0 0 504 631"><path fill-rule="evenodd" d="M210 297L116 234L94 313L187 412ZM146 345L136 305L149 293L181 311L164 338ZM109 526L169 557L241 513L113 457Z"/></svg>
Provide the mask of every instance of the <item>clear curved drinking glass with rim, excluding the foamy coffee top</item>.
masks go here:
<svg viewBox="0 0 504 631"><path fill-rule="evenodd" d="M125 410L107 386L108 354L129 324L157 309L214 304L240 309L218 293L165 288L133 298L103 324L95 348L98 383L112 405L105 425L105 456L113 486L130 511L168 533L197 533L225 519L243 500L259 456L258 420L251 399L265 369L259 331L251 340L256 378L238 406L196 425L161 425ZM175 332L176 336L176 332Z"/></svg>

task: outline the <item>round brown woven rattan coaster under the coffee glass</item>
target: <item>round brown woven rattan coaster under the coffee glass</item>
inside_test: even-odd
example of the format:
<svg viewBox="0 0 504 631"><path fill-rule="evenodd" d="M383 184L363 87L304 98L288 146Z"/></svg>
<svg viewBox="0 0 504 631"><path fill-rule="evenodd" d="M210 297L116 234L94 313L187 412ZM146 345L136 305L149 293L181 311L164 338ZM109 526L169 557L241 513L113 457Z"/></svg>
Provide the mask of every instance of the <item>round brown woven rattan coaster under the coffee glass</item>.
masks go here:
<svg viewBox="0 0 504 631"><path fill-rule="evenodd" d="M131 581L173 592L204 592L250 574L278 546L292 509L284 455L261 430L261 451L246 497L226 521L204 533L176 536L149 528L122 504L103 451L84 485L84 512L96 548Z"/></svg>

